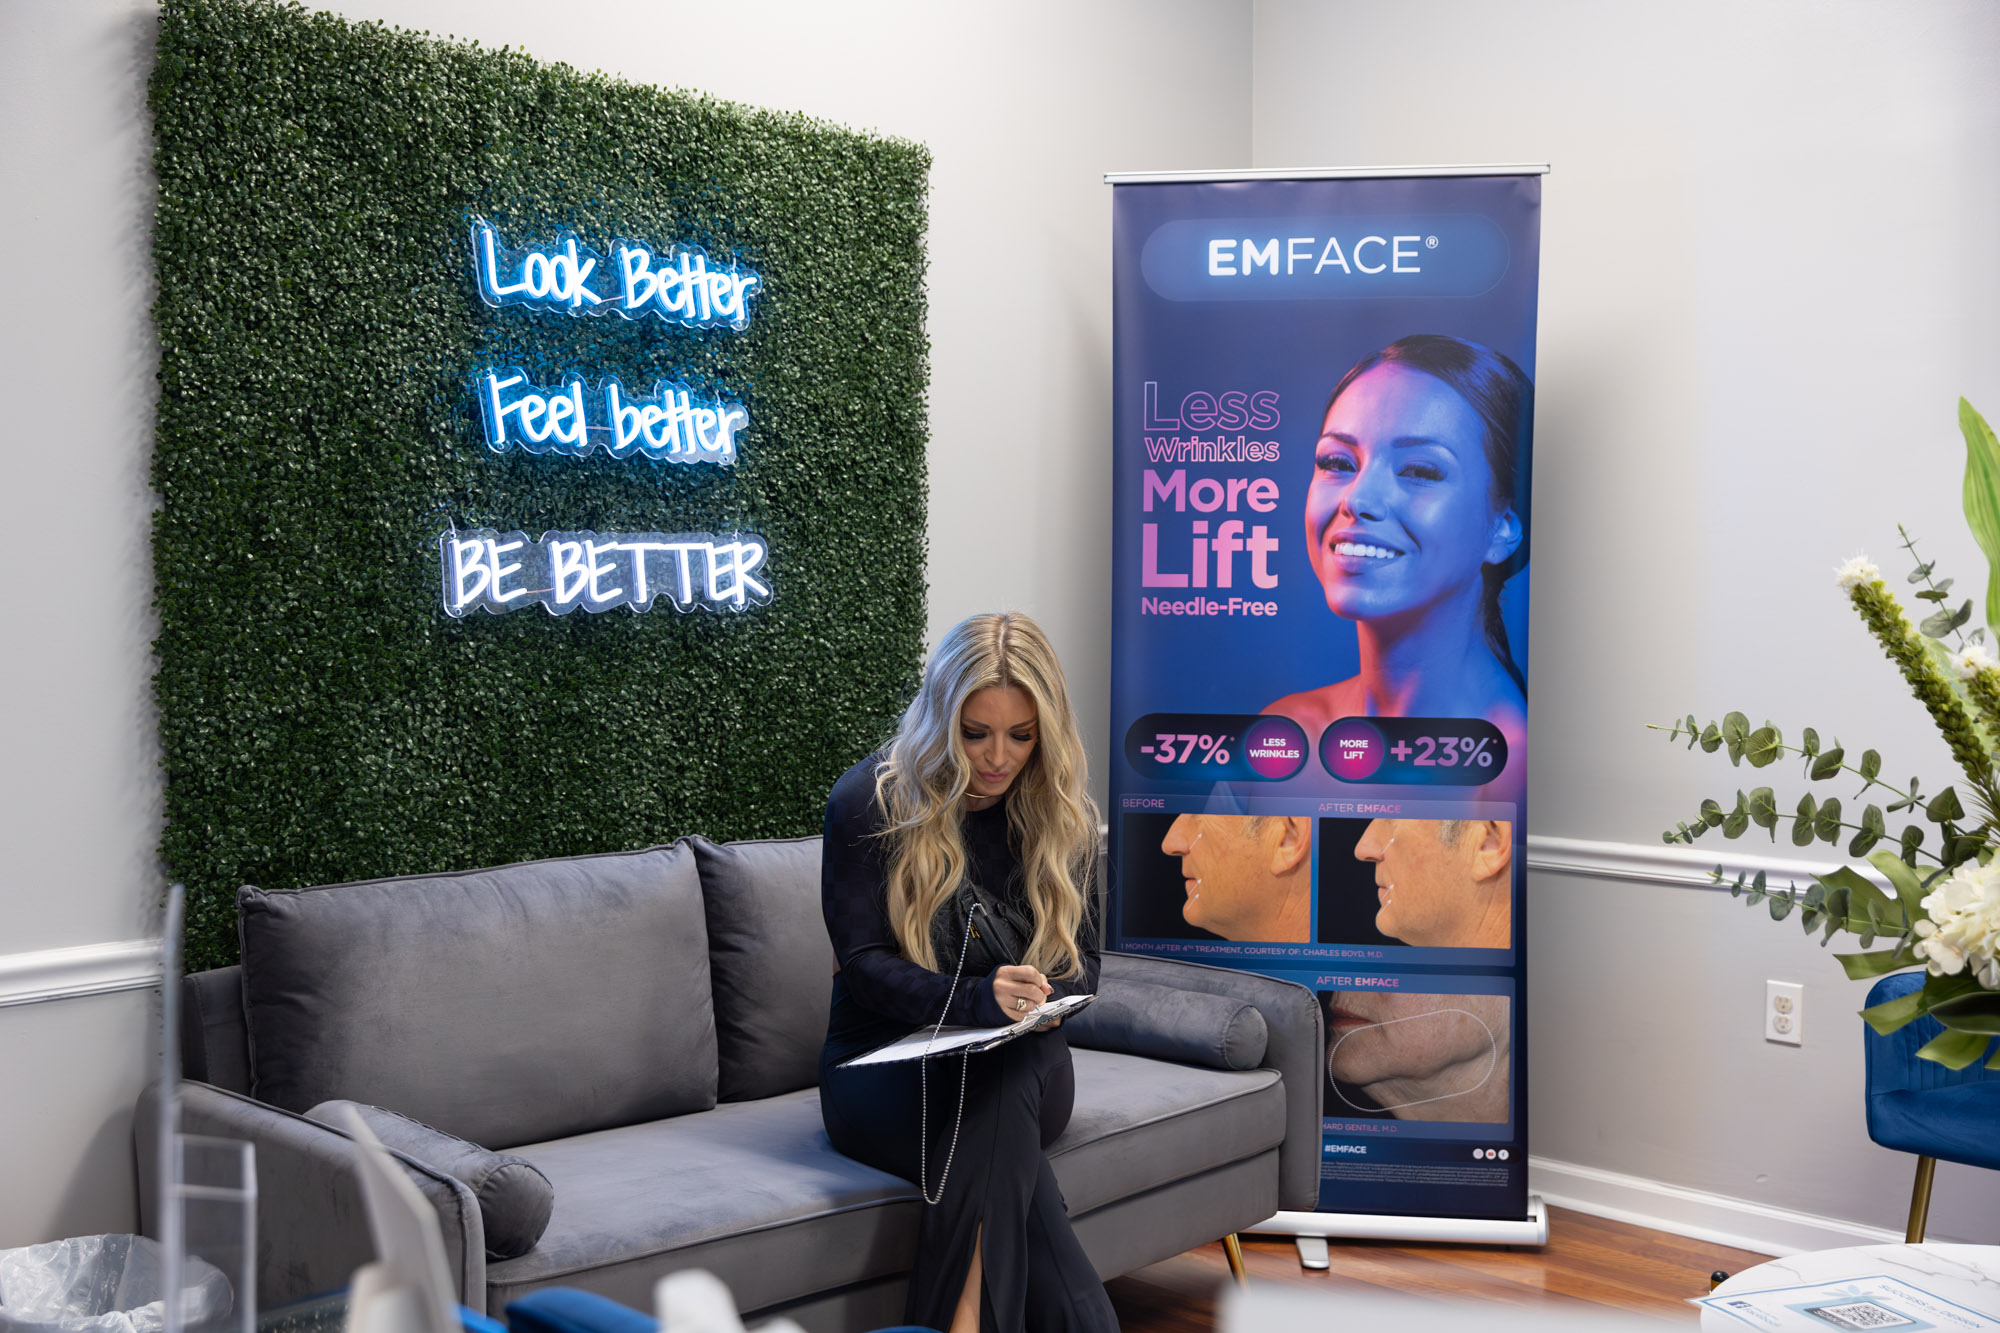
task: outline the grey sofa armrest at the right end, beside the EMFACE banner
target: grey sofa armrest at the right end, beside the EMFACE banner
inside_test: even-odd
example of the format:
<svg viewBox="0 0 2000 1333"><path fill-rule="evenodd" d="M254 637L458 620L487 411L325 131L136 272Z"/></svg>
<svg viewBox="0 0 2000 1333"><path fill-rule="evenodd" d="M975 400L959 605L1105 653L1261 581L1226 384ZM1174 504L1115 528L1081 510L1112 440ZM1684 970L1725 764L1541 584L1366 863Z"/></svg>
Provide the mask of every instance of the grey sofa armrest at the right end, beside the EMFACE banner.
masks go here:
<svg viewBox="0 0 2000 1333"><path fill-rule="evenodd" d="M1262 1067L1276 1069L1284 1077L1278 1205L1296 1211L1320 1207L1320 1095L1326 1083L1326 1031L1318 997L1294 981L1278 981L1262 973L1134 953L1106 953L1100 985L1104 981L1142 981L1256 1005L1270 1033Z"/></svg>

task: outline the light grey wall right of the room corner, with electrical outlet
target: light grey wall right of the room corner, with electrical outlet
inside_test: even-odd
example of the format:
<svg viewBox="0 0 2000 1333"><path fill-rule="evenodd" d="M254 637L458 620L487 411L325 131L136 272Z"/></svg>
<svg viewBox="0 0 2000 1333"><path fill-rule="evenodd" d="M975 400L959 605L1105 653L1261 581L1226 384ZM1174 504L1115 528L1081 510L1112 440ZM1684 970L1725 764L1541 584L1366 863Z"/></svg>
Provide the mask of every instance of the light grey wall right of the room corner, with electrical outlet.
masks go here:
<svg viewBox="0 0 2000 1333"><path fill-rule="evenodd" d="M1904 522L1986 582L1956 404L2000 420L2000 10L1258 0L1254 22L1256 166L1554 166L1532 833L1630 863L1752 787L1642 727L1686 713L1812 725L1942 787L1950 755L1832 568L1868 550L1900 586ZM1794 925L1532 873L1528 933L1536 1159L1902 1229L1910 1159L1868 1143L1858 1097L1866 987ZM1806 983L1802 1049L1762 1041L1766 979ZM1996 1239L1992 1185L1942 1169L1934 1231Z"/></svg>

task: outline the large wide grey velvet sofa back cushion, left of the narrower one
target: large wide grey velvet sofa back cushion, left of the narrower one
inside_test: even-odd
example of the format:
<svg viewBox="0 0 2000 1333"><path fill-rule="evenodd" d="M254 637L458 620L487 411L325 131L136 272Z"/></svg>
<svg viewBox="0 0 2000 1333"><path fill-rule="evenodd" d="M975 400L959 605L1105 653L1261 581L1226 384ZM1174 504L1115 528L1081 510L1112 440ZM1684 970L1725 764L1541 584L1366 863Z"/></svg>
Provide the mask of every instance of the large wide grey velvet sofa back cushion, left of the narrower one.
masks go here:
<svg viewBox="0 0 2000 1333"><path fill-rule="evenodd" d="M236 895L250 1087L488 1149L716 1105L686 843Z"/></svg>

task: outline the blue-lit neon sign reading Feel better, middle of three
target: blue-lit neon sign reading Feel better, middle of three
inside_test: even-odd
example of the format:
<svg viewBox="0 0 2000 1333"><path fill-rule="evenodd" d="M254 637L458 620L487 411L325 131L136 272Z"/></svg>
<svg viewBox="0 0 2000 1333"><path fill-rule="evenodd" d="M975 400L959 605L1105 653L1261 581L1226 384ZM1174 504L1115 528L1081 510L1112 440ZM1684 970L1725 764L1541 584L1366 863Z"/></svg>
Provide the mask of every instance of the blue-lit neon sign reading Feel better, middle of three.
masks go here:
<svg viewBox="0 0 2000 1333"><path fill-rule="evenodd" d="M736 462L736 432L750 424L740 402L702 402L680 380L654 384L650 396L630 396L616 376L586 388L582 376L560 386L532 384L526 370L480 376L480 416L486 448L504 454L516 444L530 454L582 458L602 448L612 458L644 454L656 462ZM594 416L592 404L602 404Z"/></svg>

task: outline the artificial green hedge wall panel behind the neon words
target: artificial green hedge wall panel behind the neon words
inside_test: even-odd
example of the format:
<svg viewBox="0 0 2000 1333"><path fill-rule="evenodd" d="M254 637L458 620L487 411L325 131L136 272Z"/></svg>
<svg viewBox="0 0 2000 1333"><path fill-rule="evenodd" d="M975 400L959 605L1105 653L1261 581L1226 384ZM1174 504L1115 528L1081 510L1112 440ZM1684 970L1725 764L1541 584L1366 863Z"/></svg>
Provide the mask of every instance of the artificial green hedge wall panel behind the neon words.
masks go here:
<svg viewBox="0 0 2000 1333"><path fill-rule="evenodd" d="M166 0L152 116L188 965L236 957L242 883L818 831L918 669L924 148L256 0ZM764 288L740 332L492 310L472 216ZM742 456L496 454L486 364L718 388ZM760 532L774 600L454 620L448 524Z"/></svg>

